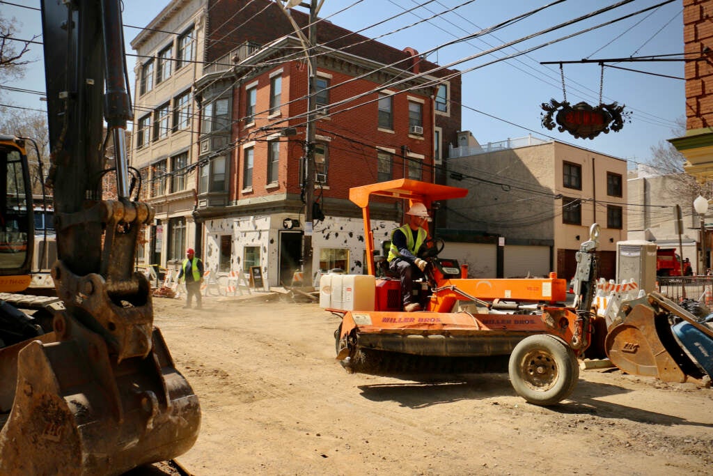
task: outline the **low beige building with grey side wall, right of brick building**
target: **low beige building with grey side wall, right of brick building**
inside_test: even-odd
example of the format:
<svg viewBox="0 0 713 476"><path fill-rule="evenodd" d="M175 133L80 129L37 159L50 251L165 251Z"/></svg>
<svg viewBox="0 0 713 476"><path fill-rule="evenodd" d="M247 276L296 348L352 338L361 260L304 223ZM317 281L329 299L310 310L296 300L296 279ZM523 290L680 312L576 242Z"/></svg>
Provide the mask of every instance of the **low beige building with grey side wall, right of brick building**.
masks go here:
<svg viewBox="0 0 713 476"><path fill-rule="evenodd" d="M528 136L481 145L462 132L448 158L448 185L470 193L443 204L441 236L461 257L480 248L470 252L471 275L554 270L569 279L580 243L598 223L600 276L613 279L616 242L627 239L626 173L620 158L558 141Z"/></svg>

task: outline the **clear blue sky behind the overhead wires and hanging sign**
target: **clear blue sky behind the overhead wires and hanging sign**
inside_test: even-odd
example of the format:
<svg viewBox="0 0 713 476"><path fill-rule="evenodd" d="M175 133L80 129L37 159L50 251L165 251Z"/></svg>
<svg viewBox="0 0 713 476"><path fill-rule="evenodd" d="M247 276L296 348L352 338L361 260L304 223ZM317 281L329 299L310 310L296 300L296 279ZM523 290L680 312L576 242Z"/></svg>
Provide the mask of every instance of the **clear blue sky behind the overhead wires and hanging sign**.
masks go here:
<svg viewBox="0 0 713 476"><path fill-rule="evenodd" d="M553 3L553 0L433 0L425 6L417 7L425 2L426 0L325 0L320 16L322 18L329 16L329 21L332 23L356 31L407 11L404 15L362 32L365 36L374 37L416 23L441 11L451 10L436 19L379 39L398 49L411 46L419 52L424 52L453 39L499 24L538 6ZM14 3L33 8L39 7L39 1L36 0L15 0ZM331 16L355 3L356 5L346 11ZM568 0L528 19L518 21L495 34L446 46L429 55L429 59L438 64L459 61L478 54L479 51L536 34L543 29L615 3L617 3L615 0ZM481 143L503 141L532 133L533 136L552 137L593 151L625 158L632 161L630 166L647 162L651 156L651 147L667 138L672 138L674 136L672 131L676 128L675 121L684 118L684 81L605 68L602 101L605 103L617 101L625 104L626 110L632 112L631 122L626 123L622 131L617 133L600 134L593 140L575 139L568 133L560 133L556 129L548 131L541 126L540 103L548 102L550 98L562 101L563 88L559 67L543 66L540 62L682 54L683 26L680 0L610 26L550 44L518 56L517 59L483 65L502 56L555 41L563 36L575 34L660 3L660 0L635 0L606 14L453 66L461 71L473 69L463 74L463 130L471 131ZM123 0L123 4L125 25L145 26L163 9L166 2ZM457 6L460 7L456 9ZM4 16L16 17L19 22L20 38L29 39L33 34L41 34L39 11L9 4L0 4L0 9ZM138 34L137 29L125 28L127 42L136 34ZM130 52L130 47L128 51ZM41 47L34 46L31 58L38 61L28 69L25 79L13 81L6 86L44 91L41 56ZM129 57L130 74L133 74L134 63L135 59ZM679 61L622 62L613 65L677 78L684 76L684 64ZM599 102L600 66L568 64L564 66L564 73L565 91L570 103ZM8 91L1 91L1 94L3 103L11 101L16 106L44 108L44 103L39 101L39 96L35 94Z"/></svg>

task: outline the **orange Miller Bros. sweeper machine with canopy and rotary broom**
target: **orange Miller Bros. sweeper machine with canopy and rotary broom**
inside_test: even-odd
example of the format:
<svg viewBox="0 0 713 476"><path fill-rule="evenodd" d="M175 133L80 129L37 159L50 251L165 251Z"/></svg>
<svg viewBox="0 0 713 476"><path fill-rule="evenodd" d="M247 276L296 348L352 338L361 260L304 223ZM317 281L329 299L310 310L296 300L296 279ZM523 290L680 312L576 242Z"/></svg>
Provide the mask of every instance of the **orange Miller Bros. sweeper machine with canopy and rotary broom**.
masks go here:
<svg viewBox="0 0 713 476"><path fill-rule="evenodd" d="M399 179L352 188L349 198L362 210L371 256L370 198L405 201L406 208L420 202L431 209L436 201L466 194L463 188ZM370 261L369 276L324 275L329 285L320 284L320 303L342 317L334 333L337 360L351 373L379 375L507 370L516 393L528 402L558 403L575 388L577 358L590 343L598 233L595 224L576 253L570 305L567 281L555 273L533 279L468 278L458 260L441 258L443 240L430 235L419 253L428 262L424 278L414 286L421 289L422 312L404 312L399 279L376 278Z"/></svg>

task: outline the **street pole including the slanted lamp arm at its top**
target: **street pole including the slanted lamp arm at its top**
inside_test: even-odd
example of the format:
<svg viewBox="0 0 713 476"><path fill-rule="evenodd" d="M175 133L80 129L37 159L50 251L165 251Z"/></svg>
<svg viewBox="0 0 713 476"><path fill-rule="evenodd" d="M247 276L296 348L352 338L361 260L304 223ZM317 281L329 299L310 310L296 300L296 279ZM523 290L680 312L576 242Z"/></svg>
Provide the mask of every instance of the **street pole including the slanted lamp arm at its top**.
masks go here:
<svg viewBox="0 0 713 476"><path fill-rule="evenodd" d="M284 2L284 5L282 4ZM322 8L324 0L310 0L310 3L303 3L300 0L277 0L277 5L282 9L287 19L292 24L294 32L302 42L304 56L307 58L307 74L308 74L308 93L307 93L307 124L304 126L304 176L302 184L304 187L304 231L302 235L302 285L312 284L312 220L314 218L314 139L317 137L317 128L315 127L314 108L317 106L317 58L311 54L314 47L314 41L317 40L317 14ZM294 22L292 16L289 15L287 9L294 6L309 6L309 29L307 37L304 36L302 30Z"/></svg>

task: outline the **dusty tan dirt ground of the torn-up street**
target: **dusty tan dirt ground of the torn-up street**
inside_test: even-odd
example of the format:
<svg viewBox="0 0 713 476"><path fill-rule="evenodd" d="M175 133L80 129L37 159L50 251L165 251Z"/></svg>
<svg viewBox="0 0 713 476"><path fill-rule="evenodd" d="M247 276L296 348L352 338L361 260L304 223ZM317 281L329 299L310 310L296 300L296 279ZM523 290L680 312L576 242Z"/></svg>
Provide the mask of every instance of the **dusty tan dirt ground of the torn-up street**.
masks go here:
<svg viewBox="0 0 713 476"><path fill-rule="evenodd" d="M200 397L193 475L710 475L713 390L585 370L528 405L507 375L442 383L350 375L316 304L211 298L155 323Z"/></svg>

